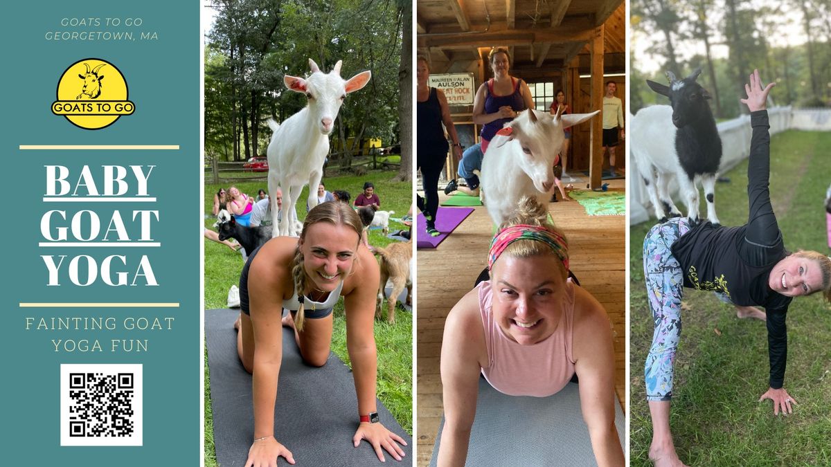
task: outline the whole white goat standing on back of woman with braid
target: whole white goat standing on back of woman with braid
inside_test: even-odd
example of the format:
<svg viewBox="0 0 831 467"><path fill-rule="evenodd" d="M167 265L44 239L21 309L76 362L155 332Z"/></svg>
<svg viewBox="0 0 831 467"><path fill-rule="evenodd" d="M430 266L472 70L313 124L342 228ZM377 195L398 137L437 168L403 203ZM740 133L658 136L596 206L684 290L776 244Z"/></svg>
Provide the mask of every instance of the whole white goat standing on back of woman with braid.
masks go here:
<svg viewBox="0 0 831 467"><path fill-rule="evenodd" d="M310 58L312 75L307 79L288 75L283 78L288 89L306 94L308 105L284 120L282 125L268 120L268 126L274 131L268 144L268 193L281 187L287 206L283 211L286 214L280 220L278 207L271 207L273 225L279 225L279 229L273 230L274 237L300 234L295 205L303 185L316 187L320 184L323 162L329 152L329 134L334 128L337 112L347 94L366 86L372 76L370 71L363 71L344 81L341 63L338 60L331 72L323 73ZM308 207L315 206L317 190L310 189Z"/></svg>

